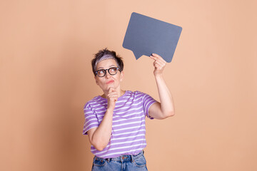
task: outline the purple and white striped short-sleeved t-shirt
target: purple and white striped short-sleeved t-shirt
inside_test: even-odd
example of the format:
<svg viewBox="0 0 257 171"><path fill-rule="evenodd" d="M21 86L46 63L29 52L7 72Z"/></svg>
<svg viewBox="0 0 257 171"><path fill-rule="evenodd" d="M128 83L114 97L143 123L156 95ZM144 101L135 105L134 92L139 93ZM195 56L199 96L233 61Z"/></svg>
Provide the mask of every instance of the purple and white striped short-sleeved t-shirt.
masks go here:
<svg viewBox="0 0 257 171"><path fill-rule="evenodd" d="M146 116L148 109L156 100L140 91L127 90L116 101L113 115L111 139L104 150L99 151L91 145L91 152L97 157L112 158L120 155L136 155L146 147ZM83 134L97 128L104 118L107 99L100 95L89 100L84 107L85 123ZM153 119L153 118L151 118Z"/></svg>

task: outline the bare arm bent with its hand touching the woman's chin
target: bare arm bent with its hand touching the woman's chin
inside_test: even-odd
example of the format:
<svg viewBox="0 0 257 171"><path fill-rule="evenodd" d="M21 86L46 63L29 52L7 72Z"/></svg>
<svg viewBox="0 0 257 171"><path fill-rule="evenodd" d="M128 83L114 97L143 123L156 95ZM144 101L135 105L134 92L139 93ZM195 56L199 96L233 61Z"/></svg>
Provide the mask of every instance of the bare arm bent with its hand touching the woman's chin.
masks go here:
<svg viewBox="0 0 257 171"><path fill-rule="evenodd" d="M106 145L109 143L111 138L112 119L117 99L117 92L114 90L114 88L110 88L108 94L108 106L103 120L98 128L92 128L88 131L89 141L91 142L91 145L96 148L96 150L104 150Z"/></svg>

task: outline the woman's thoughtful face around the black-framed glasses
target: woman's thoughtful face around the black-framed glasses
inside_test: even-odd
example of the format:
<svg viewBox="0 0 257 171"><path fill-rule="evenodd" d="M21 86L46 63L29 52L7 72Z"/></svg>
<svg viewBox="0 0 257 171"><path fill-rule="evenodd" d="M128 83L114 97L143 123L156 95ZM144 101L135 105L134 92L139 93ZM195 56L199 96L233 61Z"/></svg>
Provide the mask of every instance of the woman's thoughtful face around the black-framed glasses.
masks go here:
<svg viewBox="0 0 257 171"><path fill-rule="evenodd" d="M117 67L116 61L112 58L101 61L96 66L96 71L99 69L109 69L112 67ZM104 91L109 91L109 88L120 89L120 83L123 79L123 71L117 71L116 75L111 76L111 74L106 71L106 75L103 77L95 76L96 84Z"/></svg>

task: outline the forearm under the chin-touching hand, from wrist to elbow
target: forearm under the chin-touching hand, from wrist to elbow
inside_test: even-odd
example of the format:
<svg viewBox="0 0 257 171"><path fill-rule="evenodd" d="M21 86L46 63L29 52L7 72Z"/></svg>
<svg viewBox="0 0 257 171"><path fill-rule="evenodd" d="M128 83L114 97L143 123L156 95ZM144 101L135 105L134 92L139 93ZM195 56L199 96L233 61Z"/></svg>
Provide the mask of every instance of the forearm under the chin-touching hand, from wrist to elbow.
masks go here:
<svg viewBox="0 0 257 171"><path fill-rule="evenodd" d="M103 120L91 138L91 144L94 145L97 150L103 150L109 143L111 138L113 113L114 110L106 110Z"/></svg>

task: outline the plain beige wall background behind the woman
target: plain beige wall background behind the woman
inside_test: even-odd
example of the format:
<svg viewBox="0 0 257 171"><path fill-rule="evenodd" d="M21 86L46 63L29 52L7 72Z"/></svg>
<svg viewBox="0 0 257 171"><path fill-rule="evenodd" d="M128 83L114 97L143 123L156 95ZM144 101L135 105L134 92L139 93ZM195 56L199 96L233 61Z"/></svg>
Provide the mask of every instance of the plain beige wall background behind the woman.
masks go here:
<svg viewBox="0 0 257 171"><path fill-rule="evenodd" d="M124 57L125 90L158 99L152 61L122 48L133 11L183 27L164 76L176 115L147 120L148 170L257 170L257 2L0 1L0 170L91 170L91 58Z"/></svg>

